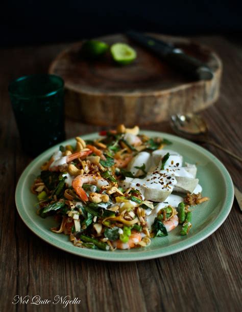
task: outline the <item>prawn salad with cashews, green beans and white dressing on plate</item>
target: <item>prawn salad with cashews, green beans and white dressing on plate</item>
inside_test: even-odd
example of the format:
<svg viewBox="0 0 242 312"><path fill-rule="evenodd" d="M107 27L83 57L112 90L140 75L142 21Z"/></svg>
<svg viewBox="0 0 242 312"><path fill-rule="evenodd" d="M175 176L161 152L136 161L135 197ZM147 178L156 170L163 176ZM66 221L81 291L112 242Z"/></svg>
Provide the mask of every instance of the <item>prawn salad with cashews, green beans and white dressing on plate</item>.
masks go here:
<svg viewBox="0 0 242 312"><path fill-rule="evenodd" d="M76 137L41 167L31 191L40 217L54 216L55 233L75 246L114 251L146 247L180 226L191 227L192 206L202 197L195 164L183 163L172 142L139 134L139 128Z"/></svg>

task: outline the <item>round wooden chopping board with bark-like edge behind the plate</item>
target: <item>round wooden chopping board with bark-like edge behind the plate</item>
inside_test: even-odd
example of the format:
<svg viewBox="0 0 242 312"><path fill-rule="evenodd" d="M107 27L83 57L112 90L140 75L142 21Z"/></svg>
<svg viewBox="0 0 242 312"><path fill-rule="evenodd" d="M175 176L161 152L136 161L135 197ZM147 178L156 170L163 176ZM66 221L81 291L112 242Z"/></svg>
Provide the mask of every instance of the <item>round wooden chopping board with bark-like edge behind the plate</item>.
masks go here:
<svg viewBox="0 0 242 312"><path fill-rule="evenodd" d="M100 60L87 61L80 56L82 42L60 53L50 73L65 81L66 114L92 124L132 126L160 122L171 114L196 112L211 105L219 96L222 74L222 62L216 53L185 38L152 35L207 63L214 72L213 79L189 80L125 35L100 37L97 39L109 45L130 44L137 58L127 66L116 65L109 53Z"/></svg>

